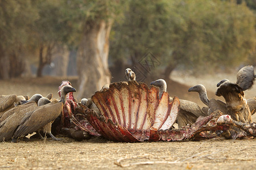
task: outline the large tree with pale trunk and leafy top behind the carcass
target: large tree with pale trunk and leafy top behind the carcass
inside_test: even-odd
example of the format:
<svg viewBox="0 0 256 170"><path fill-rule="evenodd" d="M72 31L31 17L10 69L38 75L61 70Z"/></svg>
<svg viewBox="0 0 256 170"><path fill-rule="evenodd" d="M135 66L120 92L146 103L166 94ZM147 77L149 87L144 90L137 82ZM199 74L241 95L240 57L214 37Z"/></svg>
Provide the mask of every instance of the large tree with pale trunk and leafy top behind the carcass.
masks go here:
<svg viewBox="0 0 256 170"><path fill-rule="evenodd" d="M78 98L90 97L106 83L110 83L108 66L109 33L122 11L125 1L66 1L69 14L76 25ZM76 22L76 23L75 23Z"/></svg>

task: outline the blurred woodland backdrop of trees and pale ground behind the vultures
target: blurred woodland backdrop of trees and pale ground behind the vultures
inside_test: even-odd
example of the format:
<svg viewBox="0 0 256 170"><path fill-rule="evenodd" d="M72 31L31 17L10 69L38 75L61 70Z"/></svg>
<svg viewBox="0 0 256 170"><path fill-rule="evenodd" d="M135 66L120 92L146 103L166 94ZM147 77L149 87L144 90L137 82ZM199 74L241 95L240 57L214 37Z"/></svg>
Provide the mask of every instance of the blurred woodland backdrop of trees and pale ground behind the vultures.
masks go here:
<svg viewBox="0 0 256 170"><path fill-rule="evenodd" d="M201 105L189 87L216 98L220 80L256 65L255 17L256 0L0 0L0 94L57 98L69 80L80 100L130 67Z"/></svg>

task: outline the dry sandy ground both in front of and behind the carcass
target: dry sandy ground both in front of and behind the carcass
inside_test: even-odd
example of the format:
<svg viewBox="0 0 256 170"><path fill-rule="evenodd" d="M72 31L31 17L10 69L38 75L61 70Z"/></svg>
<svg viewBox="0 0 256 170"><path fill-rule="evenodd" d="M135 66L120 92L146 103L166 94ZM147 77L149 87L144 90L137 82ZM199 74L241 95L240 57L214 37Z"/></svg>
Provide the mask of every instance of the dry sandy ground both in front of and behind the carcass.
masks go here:
<svg viewBox="0 0 256 170"><path fill-rule="evenodd" d="M179 73L171 75L177 81L168 81L171 96L203 106L197 94L187 92L189 87L201 83L207 87L209 98L215 97L215 87L207 84L212 82L209 77L207 81L204 77L185 79L181 76ZM214 76L211 78L216 79ZM32 96L40 93L46 96L52 92L57 99L60 82L67 79L77 87L76 77L0 80L0 95ZM216 82L220 79L217 78ZM246 96L254 97L255 85L246 93ZM44 141L0 143L0 169L255 169L256 166L255 139L122 143L101 138L82 142L59 138L63 140L47 138Z"/></svg>

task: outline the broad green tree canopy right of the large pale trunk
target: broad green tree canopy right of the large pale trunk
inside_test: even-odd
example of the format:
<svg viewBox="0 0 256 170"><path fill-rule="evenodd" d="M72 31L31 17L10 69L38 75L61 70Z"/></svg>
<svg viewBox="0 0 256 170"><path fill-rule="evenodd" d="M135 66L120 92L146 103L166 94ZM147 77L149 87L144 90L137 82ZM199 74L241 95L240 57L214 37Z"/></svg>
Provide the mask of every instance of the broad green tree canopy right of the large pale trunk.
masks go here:
<svg viewBox="0 0 256 170"><path fill-rule="evenodd" d="M134 0L114 26L110 57L139 59L149 49L162 66L231 67L255 49L255 37L255 17L244 3Z"/></svg>

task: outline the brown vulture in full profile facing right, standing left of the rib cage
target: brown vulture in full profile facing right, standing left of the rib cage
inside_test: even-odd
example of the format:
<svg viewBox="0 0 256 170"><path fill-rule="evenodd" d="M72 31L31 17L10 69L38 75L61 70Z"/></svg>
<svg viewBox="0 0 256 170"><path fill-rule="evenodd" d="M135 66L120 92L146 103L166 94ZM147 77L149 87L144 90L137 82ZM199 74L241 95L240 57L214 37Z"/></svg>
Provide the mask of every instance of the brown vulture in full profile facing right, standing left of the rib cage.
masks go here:
<svg viewBox="0 0 256 170"><path fill-rule="evenodd" d="M13 135L12 142L17 142L19 137L24 137L27 134L40 130L59 117L63 111L63 105L66 102L66 95L69 92L76 92L76 89L70 85L65 85L60 90L60 101L58 103L49 103L34 109L34 111L28 112L20 121L20 125ZM51 134L51 131L47 133L53 139L59 140Z"/></svg>

